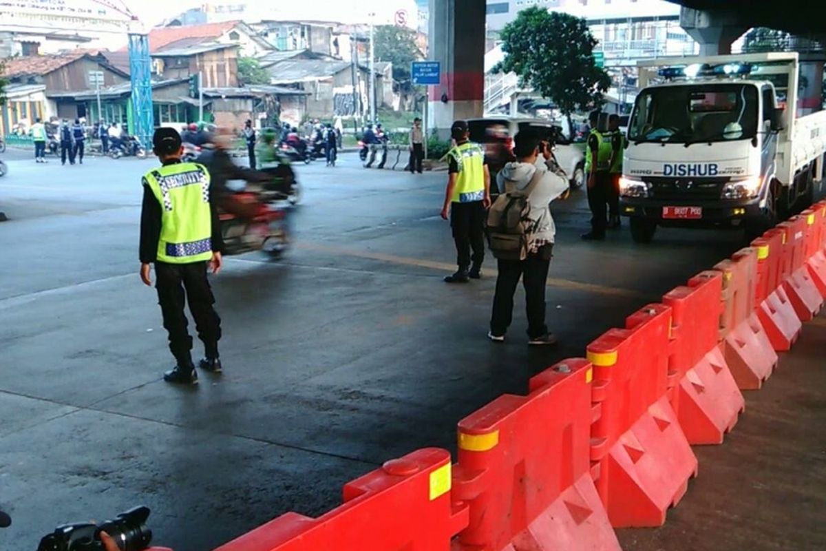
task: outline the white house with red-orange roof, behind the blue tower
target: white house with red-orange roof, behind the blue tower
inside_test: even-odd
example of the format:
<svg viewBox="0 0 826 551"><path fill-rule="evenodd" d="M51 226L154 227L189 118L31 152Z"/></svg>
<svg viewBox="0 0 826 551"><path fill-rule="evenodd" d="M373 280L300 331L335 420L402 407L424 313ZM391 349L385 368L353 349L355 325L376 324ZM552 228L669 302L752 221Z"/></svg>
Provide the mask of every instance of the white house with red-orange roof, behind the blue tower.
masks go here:
<svg viewBox="0 0 826 551"><path fill-rule="evenodd" d="M170 48L215 44L236 45L242 57L256 57L273 50L272 45L244 21L172 25L156 27L150 31L151 54Z"/></svg>

